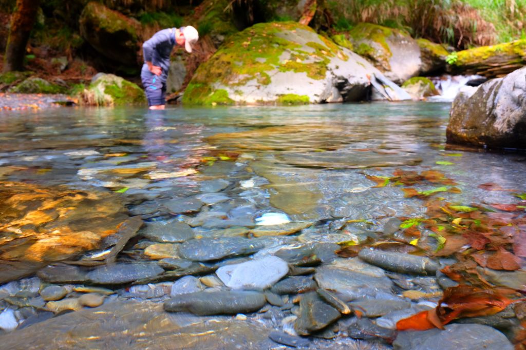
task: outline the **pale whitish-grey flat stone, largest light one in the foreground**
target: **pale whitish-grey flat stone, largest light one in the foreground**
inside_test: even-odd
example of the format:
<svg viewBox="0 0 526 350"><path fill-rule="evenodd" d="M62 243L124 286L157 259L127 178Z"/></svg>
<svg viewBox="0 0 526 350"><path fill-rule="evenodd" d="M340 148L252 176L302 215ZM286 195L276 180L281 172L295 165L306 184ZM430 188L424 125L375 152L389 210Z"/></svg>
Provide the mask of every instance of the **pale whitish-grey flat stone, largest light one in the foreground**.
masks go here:
<svg viewBox="0 0 526 350"><path fill-rule="evenodd" d="M216 274L231 289L263 290L279 281L288 271L289 266L284 260L271 255L219 267Z"/></svg>

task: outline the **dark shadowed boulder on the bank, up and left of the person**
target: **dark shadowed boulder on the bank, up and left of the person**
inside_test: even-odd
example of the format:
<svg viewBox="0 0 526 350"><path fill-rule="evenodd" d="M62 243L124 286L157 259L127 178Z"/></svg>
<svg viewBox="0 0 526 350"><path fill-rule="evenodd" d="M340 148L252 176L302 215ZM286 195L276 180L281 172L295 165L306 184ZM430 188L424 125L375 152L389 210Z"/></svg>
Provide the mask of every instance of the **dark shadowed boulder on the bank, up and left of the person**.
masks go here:
<svg viewBox="0 0 526 350"><path fill-rule="evenodd" d="M125 65L137 65L140 23L103 4L90 2L79 19L80 35L97 52Z"/></svg>

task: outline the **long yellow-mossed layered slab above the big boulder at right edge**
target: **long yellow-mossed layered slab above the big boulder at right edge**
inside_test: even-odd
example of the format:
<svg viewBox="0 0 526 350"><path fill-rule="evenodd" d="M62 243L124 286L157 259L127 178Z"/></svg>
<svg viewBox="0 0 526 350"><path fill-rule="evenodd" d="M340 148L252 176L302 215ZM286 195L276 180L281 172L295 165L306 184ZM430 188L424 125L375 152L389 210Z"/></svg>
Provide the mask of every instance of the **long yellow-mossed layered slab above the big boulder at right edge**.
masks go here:
<svg viewBox="0 0 526 350"><path fill-rule="evenodd" d="M526 65L526 39L462 50L453 53L450 61L454 73L503 77Z"/></svg>

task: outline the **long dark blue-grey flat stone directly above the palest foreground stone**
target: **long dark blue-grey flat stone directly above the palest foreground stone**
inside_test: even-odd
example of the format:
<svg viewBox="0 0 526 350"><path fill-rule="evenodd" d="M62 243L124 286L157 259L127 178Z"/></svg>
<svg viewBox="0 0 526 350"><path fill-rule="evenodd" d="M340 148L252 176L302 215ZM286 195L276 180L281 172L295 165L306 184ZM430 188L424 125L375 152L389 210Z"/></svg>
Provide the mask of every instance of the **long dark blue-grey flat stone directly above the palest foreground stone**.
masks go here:
<svg viewBox="0 0 526 350"><path fill-rule="evenodd" d="M252 254L264 245L250 239L228 238L203 238L190 240L179 246L181 258L194 261L213 261L238 255Z"/></svg>

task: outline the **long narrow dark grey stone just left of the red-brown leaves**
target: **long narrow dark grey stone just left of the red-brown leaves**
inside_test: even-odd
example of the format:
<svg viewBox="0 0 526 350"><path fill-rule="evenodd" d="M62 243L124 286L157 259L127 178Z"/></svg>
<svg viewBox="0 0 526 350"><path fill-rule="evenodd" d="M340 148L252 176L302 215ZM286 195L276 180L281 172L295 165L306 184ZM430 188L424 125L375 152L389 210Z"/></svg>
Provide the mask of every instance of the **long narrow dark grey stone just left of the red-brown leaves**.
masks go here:
<svg viewBox="0 0 526 350"><path fill-rule="evenodd" d="M409 255L405 253L386 252L372 249L362 249L358 258L382 269L421 275L435 275L440 265L424 256Z"/></svg>

